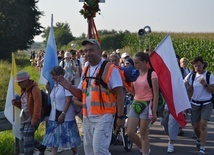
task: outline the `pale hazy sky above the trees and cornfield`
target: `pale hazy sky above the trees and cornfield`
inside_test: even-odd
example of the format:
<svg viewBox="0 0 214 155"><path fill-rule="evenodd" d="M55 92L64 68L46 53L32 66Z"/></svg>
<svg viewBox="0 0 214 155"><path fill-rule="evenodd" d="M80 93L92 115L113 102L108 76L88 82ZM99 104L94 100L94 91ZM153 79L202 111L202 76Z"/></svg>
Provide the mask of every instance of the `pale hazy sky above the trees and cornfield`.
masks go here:
<svg viewBox="0 0 214 155"><path fill-rule="evenodd" d="M79 0L39 0L44 12L43 27L67 22L73 36L87 34L87 20L79 13ZM101 15L95 17L98 30L138 32L150 26L155 32L214 32L214 0L105 0L99 3ZM35 41L43 41L36 36Z"/></svg>

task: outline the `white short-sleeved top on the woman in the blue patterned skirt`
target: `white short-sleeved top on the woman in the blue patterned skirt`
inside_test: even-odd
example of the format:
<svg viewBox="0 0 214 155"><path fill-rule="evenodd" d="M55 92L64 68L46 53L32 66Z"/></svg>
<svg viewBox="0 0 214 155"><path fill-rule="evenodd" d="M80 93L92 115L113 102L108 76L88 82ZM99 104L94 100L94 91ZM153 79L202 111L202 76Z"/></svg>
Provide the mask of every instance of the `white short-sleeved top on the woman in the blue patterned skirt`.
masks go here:
<svg viewBox="0 0 214 155"><path fill-rule="evenodd" d="M66 96L72 96L72 94L64 89L60 84L54 85L54 88L51 91L51 113L49 116L49 120L55 121L56 109L59 111L63 110L65 105ZM68 111L65 115L65 121L73 121L75 119L75 112L73 105L71 104L68 108Z"/></svg>

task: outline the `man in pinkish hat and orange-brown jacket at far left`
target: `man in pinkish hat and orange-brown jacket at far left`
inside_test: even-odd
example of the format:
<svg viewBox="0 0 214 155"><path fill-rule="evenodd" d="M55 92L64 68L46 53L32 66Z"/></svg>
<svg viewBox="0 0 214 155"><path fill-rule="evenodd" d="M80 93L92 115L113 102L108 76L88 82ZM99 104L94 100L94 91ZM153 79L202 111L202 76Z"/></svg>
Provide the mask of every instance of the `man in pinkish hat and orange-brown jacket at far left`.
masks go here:
<svg viewBox="0 0 214 155"><path fill-rule="evenodd" d="M19 72L15 82L21 88L21 97L20 99L12 100L12 104L21 109L20 132L24 141L24 154L31 155L34 152L34 144L37 143L39 145L39 142L34 139L34 133L38 128L43 113L42 94L37 83L34 80L30 80L27 72ZM43 153L44 150L41 154Z"/></svg>

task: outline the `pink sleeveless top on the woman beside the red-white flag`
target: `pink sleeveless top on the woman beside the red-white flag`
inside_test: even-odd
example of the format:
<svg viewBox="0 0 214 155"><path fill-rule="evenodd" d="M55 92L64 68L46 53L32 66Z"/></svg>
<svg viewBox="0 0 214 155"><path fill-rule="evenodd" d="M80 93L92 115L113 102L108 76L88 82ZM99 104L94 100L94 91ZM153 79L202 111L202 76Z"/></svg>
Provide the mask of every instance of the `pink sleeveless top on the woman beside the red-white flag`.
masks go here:
<svg viewBox="0 0 214 155"><path fill-rule="evenodd" d="M150 88L147 74L140 75L135 82L133 82L135 91L135 100L150 101L153 99L152 88ZM151 79L158 78L156 72L152 72Z"/></svg>

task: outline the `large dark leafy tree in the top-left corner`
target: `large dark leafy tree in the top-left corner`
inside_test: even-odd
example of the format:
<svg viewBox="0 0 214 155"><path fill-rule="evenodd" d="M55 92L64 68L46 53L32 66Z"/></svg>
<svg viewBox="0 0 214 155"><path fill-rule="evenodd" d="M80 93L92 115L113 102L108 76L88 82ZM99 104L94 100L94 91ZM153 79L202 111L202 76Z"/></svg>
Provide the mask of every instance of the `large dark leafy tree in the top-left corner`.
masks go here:
<svg viewBox="0 0 214 155"><path fill-rule="evenodd" d="M11 53L26 50L43 27L38 22L43 12L37 0L0 1L0 59L10 59Z"/></svg>

